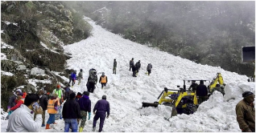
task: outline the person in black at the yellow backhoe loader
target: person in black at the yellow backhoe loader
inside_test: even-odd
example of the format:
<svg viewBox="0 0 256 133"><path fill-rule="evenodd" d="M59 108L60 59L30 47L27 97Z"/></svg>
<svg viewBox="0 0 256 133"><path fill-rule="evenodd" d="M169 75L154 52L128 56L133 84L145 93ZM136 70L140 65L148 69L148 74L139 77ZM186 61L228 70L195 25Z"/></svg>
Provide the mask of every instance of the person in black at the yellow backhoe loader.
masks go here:
<svg viewBox="0 0 256 133"><path fill-rule="evenodd" d="M196 95L198 96L198 103L203 103L207 99L208 91L204 85L204 81L200 80L200 84L196 87Z"/></svg>

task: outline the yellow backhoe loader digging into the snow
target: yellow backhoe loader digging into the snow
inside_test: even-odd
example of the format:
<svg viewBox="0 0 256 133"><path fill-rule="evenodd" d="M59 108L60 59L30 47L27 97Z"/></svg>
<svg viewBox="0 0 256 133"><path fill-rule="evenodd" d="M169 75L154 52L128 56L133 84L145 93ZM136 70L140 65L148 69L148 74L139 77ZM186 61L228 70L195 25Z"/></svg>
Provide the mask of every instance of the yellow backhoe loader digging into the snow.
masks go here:
<svg viewBox="0 0 256 133"><path fill-rule="evenodd" d="M201 79L200 79L201 80ZM157 99L159 99L159 102L154 103L144 103L142 102L142 107L158 107L158 105L166 105L171 106L171 117L175 116L177 114L193 114L197 107L199 106L197 102L197 96L196 91L191 91L189 89L186 89L186 82L196 82L200 80L184 80L184 87L180 87L180 90L171 90L167 89L167 87L164 88L162 93L159 95ZM209 80L203 80L204 82ZM210 82L210 81L209 81ZM216 77L213 78L213 81L209 83L208 89L209 94L212 94L213 91L222 91L224 92L224 89L221 87L219 88L218 85L221 85L221 87L225 86L225 83L223 82L223 78L221 76L221 73L217 73Z"/></svg>

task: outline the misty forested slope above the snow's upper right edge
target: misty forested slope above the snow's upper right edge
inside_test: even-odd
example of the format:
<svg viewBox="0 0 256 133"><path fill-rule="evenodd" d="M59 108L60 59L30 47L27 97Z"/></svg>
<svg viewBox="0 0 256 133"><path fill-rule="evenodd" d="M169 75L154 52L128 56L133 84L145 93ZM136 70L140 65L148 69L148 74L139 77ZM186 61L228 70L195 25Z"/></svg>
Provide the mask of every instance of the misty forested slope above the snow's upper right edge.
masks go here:
<svg viewBox="0 0 256 133"><path fill-rule="evenodd" d="M67 2L131 41L193 62L254 75L242 46L255 46L255 2Z"/></svg>

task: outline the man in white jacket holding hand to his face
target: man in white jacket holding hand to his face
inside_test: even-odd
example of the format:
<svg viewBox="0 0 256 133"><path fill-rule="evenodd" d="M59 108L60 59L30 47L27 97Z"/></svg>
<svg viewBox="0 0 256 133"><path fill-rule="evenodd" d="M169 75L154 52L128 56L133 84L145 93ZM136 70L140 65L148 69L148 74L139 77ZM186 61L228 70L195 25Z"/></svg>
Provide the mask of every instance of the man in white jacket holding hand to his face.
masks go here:
<svg viewBox="0 0 256 133"><path fill-rule="evenodd" d="M8 127L9 132L39 132L42 124L43 109L37 104L39 95L29 94L26 96L24 104L11 113ZM33 112L36 115L35 121Z"/></svg>

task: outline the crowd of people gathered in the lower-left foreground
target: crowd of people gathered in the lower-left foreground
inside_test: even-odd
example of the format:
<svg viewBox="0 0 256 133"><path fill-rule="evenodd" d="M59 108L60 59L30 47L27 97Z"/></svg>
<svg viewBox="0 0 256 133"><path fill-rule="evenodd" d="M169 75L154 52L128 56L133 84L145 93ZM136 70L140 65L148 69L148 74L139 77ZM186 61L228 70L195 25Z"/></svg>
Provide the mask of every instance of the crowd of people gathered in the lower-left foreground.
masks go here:
<svg viewBox="0 0 256 133"><path fill-rule="evenodd" d="M64 90L68 91L69 87ZM47 99L47 95L41 89L37 94L28 94L23 99L23 103L17 102L23 92L19 89L15 91L17 98L10 97L10 101L14 99L14 103L10 102L8 107L8 126L6 131L10 132L39 132L40 127L51 129L51 124L57 124L56 119L64 119L64 132L68 132L71 128L72 132L82 132L85 127L85 122L91 118L91 100L89 99L89 91L84 91L81 96L76 95L72 90L69 90L65 95L60 93L60 85L52 92ZM22 97L22 96L20 96ZM64 98L65 102L64 102ZM20 100L20 99L19 99ZM63 109L61 112L61 105ZM16 107L11 111L12 107ZM45 113L49 114L45 125ZM105 118L109 118L109 102L106 100L106 95L103 95L101 100L97 101L93 108L93 131L96 129L97 120L100 119L99 132L102 131ZM106 114L107 113L107 114ZM78 123L81 121L81 126Z"/></svg>

